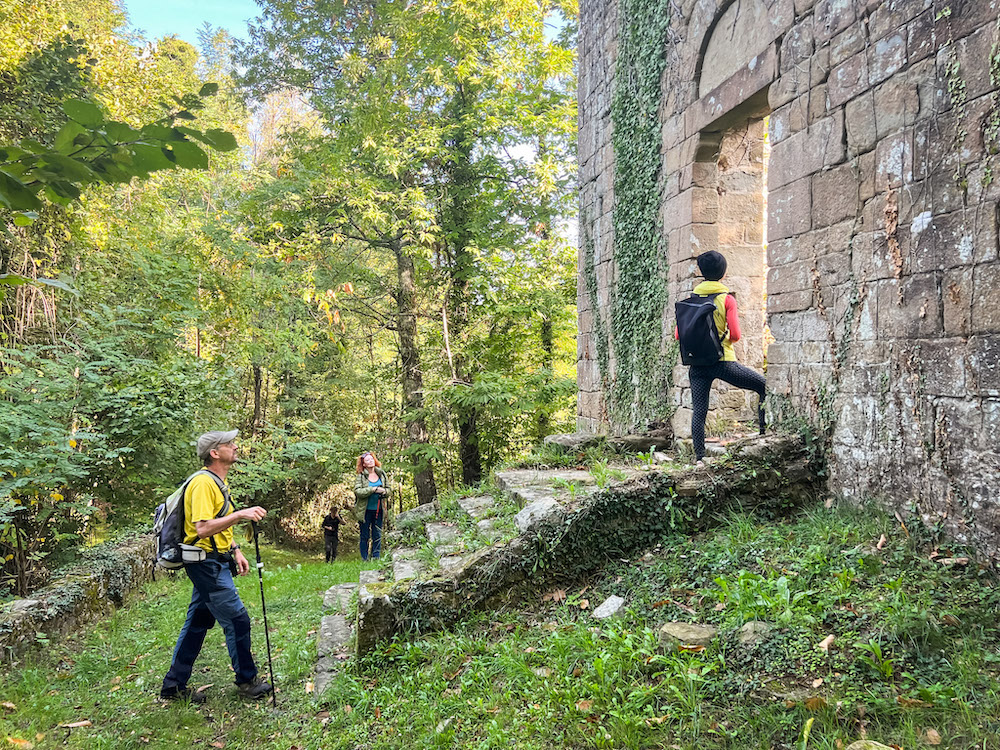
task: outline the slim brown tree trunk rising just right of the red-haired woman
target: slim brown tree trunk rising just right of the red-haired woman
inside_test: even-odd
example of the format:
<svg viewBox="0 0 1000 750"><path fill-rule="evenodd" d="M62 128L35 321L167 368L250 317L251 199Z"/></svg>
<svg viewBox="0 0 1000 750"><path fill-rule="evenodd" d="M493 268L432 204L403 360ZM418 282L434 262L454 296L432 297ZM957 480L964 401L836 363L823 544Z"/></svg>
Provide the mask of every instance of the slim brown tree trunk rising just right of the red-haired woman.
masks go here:
<svg viewBox="0 0 1000 750"><path fill-rule="evenodd" d="M403 370L403 420L409 447L427 447L429 435L424 418L424 376L420 367L420 349L417 346L417 283L413 258L401 241L393 243L396 255L396 272L399 286L396 289L396 308L399 313L399 358ZM417 503L424 505L437 498L434 467L426 455L412 453L413 486Z"/></svg>

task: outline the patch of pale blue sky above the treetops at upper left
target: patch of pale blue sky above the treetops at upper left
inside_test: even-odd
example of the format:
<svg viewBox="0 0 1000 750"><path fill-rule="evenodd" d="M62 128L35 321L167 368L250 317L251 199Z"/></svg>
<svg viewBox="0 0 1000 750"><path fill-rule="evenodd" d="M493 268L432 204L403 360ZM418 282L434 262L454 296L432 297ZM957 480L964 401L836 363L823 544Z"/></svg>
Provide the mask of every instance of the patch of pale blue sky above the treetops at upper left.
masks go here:
<svg viewBox="0 0 1000 750"><path fill-rule="evenodd" d="M258 15L254 0L122 0L133 28L149 39L176 34L186 42L198 41L198 28L206 21L235 37L246 37L246 22Z"/></svg>

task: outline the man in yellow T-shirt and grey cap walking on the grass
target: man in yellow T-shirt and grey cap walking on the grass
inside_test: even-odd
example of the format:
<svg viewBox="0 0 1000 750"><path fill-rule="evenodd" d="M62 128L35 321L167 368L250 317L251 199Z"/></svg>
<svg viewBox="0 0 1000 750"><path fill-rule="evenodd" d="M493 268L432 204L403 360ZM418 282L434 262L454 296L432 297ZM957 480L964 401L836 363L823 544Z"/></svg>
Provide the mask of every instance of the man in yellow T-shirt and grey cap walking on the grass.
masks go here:
<svg viewBox="0 0 1000 750"><path fill-rule="evenodd" d="M233 544L233 526L249 521L256 531L256 523L267 515L259 506L236 510L229 496L226 476L238 460L238 433L239 430L206 432L198 438L198 457L204 469L190 477L184 489L184 546L194 550L194 556L200 559L184 564L184 572L194 588L187 619L177 637L173 662L160 688L160 697L165 700L187 698L192 703L205 702L205 694L191 690L188 680L205 634L216 621L225 633L239 694L256 699L273 690L257 673L250 652L250 616L233 581L234 574L242 576L250 571L250 563L239 545Z"/></svg>

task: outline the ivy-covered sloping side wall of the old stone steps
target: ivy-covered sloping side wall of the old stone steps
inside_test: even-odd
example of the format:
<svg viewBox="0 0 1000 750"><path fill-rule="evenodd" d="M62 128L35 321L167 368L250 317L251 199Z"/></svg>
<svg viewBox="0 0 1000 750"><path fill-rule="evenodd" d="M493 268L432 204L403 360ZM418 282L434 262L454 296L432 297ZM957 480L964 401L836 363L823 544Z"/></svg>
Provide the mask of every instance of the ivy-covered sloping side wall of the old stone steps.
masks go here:
<svg viewBox="0 0 1000 750"><path fill-rule="evenodd" d="M525 587L578 580L604 564L634 558L671 533L696 533L735 510L776 513L816 497L822 480L798 436L745 441L702 467L651 472L558 510L512 541L487 547L448 575L388 585L371 597L377 629L359 610L360 653L394 633L447 627ZM377 606L376 606L377 605ZM375 632L377 630L377 632Z"/></svg>

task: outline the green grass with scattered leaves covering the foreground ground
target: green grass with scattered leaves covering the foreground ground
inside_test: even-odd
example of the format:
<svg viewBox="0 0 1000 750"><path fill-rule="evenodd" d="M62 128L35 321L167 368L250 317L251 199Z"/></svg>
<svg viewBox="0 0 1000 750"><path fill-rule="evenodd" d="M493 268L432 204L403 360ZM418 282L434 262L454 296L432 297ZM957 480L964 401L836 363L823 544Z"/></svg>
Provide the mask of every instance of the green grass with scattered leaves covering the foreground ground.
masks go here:
<svg viewBox="0 0 1000 750"><path fill-rule="evenodd" d="M842 748L864 733L931 747L928 730L941 747L993 748L995 582L974 564L942 565L963 550L932 554L929 535L908 531L871 509L734 516L615 563L565 596L538 591L455 630L388 643L319 701L306 692L309 631L322 591L356 579L359 563L325 566L269 549L277 714L232 695L216 632L199 662L207 671L196 672L198 684L215 685L208 708L157 702L188 595L180 581L159 582L85 637L0 678L0 701L17 706L0 715L0 743L42 734L36 747L778 750L802 747L813 719L810 749ZM241 588L263 656L256 578ZM612 593L626 597L625 613L595 621L590 611ZM753 619L774 630L750 650L736 632ZM711 623L720 637L703 651L668 652L658 628L669 620ZM817 648L829 635L829 650ZM58 727L82 719L93 726Z"/></svg>

